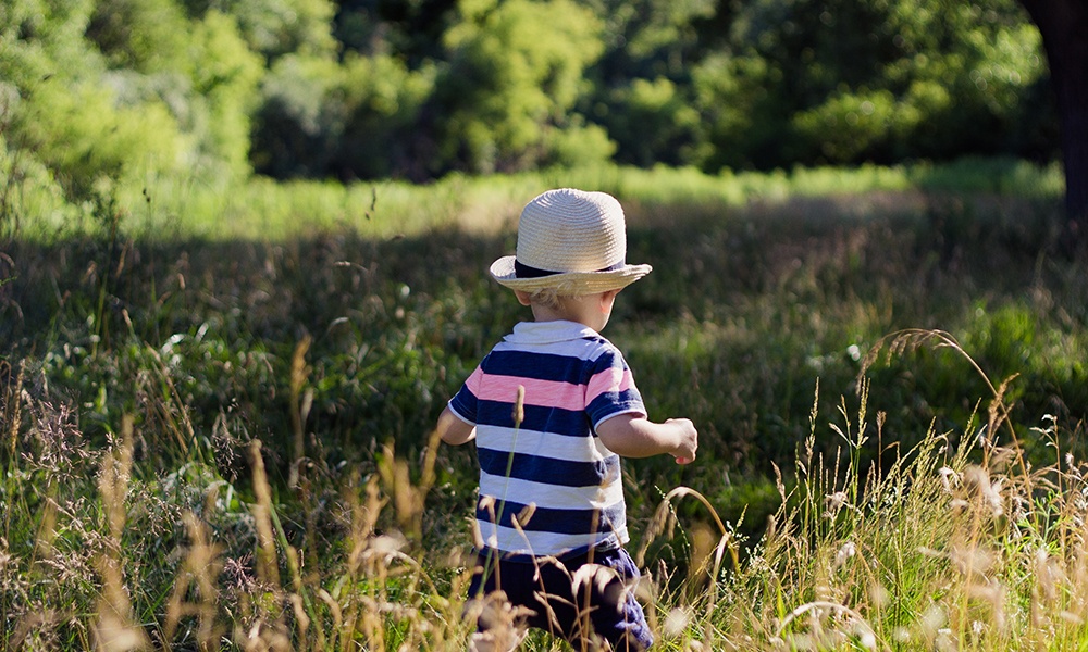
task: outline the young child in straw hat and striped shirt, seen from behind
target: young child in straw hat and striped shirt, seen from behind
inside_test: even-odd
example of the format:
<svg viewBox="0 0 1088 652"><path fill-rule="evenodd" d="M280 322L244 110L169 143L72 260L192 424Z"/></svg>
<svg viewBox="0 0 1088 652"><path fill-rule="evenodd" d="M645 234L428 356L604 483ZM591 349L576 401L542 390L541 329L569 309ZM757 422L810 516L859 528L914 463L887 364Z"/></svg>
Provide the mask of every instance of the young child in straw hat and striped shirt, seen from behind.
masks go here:
<svg viewBox="0 0 1088 652"><path fill-rule="evenodd" d="M482 547L470 598L502 595L530 614L523 625L576 650L652 644L630 590L639 569L623 549L620 457L688 464L697 448L689 419L647 418L622 354L599 335L616 294L651 271L626 256L623 210L611 196L565 188L529 202L517 255L491 274L533 321L492 349L437 425L446 443L475 440L480 461ZM499 638L487 620L478 617L478 645Z"/></svg>

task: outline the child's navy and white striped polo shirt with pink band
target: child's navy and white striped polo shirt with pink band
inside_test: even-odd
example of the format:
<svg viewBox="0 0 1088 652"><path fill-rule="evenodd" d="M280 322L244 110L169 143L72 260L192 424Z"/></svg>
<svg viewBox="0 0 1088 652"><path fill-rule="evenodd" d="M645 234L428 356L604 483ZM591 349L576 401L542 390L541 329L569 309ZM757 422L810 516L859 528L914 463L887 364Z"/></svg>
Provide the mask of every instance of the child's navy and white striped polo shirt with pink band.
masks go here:
<svg viewBox="0 0 1088 652"><path fill-rule="evenodd" d="M517 424L519 387L524 401ZM620 459L594 429L646 410L611 342L573 322L518 324L449 408L477 428L475 517L486 547L516 559L628 542Z"/></svg>

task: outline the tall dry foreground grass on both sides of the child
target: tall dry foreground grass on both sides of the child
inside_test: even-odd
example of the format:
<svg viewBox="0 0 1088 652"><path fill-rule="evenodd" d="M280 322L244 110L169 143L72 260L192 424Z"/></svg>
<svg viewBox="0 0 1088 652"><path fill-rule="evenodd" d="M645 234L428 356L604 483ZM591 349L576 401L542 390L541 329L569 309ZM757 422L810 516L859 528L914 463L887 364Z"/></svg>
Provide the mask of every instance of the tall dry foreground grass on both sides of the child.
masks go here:
<svg viewBox="0 0 1088 652"><path fill-rule="evenodd" d="M882 348L930 344L970 361L940 331L897 334ZM930 429L900 450L885 440L883 414L869 414L864 378L860 387L820 423L817 384L809 436L778 474L781 506L758 540L694 488L664 497L636 555L659 648L1084 649L1088 463L1060 449L1063 424L1040 424L1053 460L1033 466L1003 384L991 384L962 431ZM234 442L248 455L246 486L198 459L156 475L141 467L133 419L96 449L23 374L2 396L8 649L465 649L468 550L421 536L435 517L433 438L416 460L381 451L367 476L323 471L304 441L287 489L299 510L283 502L258 439ZM838 441L838 454L818 452L820 439ZM873 439L885 465L858 454ZM695 509L679 509L688 502ZM688 563L663 563L660 544ZM523 649L561 647L530 636Z"/></svg>

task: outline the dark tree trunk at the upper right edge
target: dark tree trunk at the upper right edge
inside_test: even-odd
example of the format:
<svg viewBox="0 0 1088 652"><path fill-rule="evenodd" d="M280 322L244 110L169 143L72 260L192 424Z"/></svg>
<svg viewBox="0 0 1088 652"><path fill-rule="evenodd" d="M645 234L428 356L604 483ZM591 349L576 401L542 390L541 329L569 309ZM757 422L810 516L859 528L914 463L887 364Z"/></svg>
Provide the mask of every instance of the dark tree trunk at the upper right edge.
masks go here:
<svg viewBox="0 0 1088 652"><path fill-rule="evenodd" d="M1021 0L1042 35L1062 122L1068 250L1088 246L1088 1Z"/></svg>

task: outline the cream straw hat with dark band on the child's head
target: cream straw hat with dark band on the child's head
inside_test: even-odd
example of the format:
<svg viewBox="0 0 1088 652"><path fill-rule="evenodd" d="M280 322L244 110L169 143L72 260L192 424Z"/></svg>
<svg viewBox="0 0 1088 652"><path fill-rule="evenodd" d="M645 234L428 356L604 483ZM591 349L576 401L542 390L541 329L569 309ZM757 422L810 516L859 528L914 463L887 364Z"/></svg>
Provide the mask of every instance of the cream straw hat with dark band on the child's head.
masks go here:
<svg viewBox="0 0 1088 652"><path fill-rule="evenodd" d="M515 290L583 296L627 287L651 269L627 264L623 209L615 197L560 188L526 205L517 255L495 261L491 275Z"/></svg>

